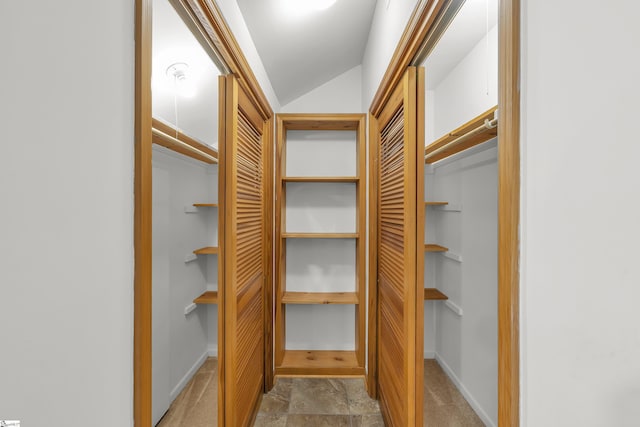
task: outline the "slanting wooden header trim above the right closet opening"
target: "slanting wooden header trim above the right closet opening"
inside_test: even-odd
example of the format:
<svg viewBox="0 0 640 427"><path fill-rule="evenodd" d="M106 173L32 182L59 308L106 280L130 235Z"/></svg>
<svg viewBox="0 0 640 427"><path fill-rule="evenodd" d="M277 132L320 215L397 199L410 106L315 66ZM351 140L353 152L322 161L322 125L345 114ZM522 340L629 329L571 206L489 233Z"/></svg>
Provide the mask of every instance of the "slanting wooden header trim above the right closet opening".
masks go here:
<svg viewBox="0 0 640 427"><path fill-rule="evenodd" d="M407 67L420 50L422 41L432 29L440 10L442 10L443 6L449 1L450 0L418 1L369 107L369 111L375 117L380 115L387 99L391 96L394 88L402 79Z"/></svg>

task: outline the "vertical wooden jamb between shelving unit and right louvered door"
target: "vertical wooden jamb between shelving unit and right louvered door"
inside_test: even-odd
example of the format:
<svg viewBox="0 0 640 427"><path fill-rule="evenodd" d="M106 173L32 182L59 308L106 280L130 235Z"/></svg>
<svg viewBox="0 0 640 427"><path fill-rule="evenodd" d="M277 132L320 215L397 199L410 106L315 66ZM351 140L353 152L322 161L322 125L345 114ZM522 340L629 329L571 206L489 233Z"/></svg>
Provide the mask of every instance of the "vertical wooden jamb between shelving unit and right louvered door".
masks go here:
<svg viewBox="0 0 640 427"><path fill-rule="evenodd" d="M369 113L369 332L367 392L378 398L378 120Z"/></svg>

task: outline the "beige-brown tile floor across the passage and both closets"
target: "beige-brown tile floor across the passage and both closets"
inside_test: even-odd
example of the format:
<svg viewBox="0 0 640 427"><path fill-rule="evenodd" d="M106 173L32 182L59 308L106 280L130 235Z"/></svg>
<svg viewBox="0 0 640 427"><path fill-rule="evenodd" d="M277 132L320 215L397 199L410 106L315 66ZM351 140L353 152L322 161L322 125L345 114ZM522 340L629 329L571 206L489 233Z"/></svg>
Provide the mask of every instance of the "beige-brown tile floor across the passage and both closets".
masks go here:
<svg viewBox="0 0 640 427"><path fill-rule="evenodd" d="M481 427L480 418L435 360L425 360L424 425ZM217 359L208 359L157 427L215 427ZM378 402L361 379L281 378L265 394L256 427L381 427Z"/></svg>

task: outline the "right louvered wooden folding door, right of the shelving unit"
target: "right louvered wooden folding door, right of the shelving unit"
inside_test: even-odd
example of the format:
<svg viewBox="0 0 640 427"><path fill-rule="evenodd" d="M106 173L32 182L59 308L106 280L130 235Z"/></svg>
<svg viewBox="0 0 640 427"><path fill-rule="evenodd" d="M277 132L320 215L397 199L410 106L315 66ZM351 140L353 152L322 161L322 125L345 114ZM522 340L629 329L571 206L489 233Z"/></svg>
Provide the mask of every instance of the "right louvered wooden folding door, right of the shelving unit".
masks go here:
<svg viewBox="0 0 640 427"><path fill-rule="evenodd" d="M377 117L378 393L389 426L422 425L422 73L410 68ZM418 142L420 140L421 142Z"/></svg>

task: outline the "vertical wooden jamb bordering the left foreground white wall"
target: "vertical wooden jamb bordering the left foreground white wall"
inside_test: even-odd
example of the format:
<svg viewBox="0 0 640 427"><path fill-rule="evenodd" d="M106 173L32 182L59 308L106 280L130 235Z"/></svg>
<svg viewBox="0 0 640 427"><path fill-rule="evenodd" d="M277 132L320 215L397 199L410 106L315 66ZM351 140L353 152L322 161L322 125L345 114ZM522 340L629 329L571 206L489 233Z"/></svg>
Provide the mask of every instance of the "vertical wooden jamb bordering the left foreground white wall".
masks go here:
<svg viewBox="0 0 640 427"><path fill-rule="evenodd" d="M151 0L136 0L133 422L151 425Z"/></svg>

